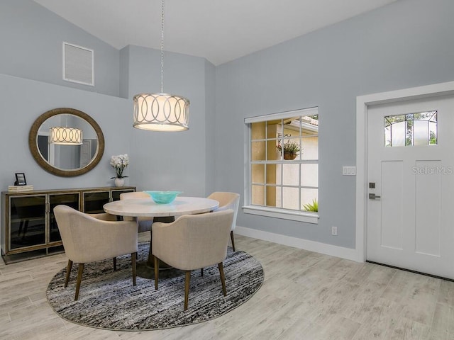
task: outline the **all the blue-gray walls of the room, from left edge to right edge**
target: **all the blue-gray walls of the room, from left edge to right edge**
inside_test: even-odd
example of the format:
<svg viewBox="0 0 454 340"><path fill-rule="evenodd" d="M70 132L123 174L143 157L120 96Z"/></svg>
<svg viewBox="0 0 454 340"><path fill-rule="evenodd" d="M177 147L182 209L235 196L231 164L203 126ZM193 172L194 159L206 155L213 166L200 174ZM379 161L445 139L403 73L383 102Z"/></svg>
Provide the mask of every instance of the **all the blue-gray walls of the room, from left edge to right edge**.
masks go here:
<svg viewBox="0 0 454 340"><path fill-rule="evenodd" d="M128 153L126 184L139 190L243 194L244 118L319 106L319 225L242 210L238 225L353 248L355 177L341 169L356 159L355 98L453 80L452 13L452 0L400 0L218 67L166 53L165 91L191 101L190 130L167 134L132 128L133 94L160 90L159 51L118 51L31 0L0 1L1 190L15 172L35 188L109 186L111 155ZM62 81L62 41L94 49L94 87ZM104 157L88 174L53 176L31 157L28 130L58 107L88 113L104 132Z"/></svg>

